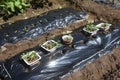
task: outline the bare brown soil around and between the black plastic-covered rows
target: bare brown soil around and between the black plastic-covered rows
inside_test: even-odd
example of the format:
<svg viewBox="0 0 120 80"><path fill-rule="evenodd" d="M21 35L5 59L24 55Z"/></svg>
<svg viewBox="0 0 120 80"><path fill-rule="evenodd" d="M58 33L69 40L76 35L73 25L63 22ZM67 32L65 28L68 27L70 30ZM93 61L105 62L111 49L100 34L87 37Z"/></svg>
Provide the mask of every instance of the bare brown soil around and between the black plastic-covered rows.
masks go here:
<svg viewBox="0 0 120 80"><path fill-rule="evenodd" d="M18 16L9 18L8 21L4 21L1 17L0 23L3 24L7 22L14 22L21 19L27 19L29 17L39 15L43 12L52 9L62 8L62 7L73 7L76 9L85 10L87 12L91 12L92 14L94 14L96 16L94 19L97 18L99 20L107 20L109 22L112 22L113 24L120 23L120 15L118 15L120 14L120 10L114 9L110 6L98 4L91 0L70 0L71 1L70 3L62 2L61 0L60 1L58 0L58 2L56 0L51 0L51 1L53 2L53 6L51 7L45 7L43 9L36 9L36 10L28 8L24 14L20 14ZM50 35L55 34L55 36L57 36L63 34L63 32L66 32L68 30L74 30L80 25L82 26L85 24L86 22L82 22L82 23L78 22L69 25L72 26L69 29L56 29L55 31L48 32L46 34L43 34L41 37L35 39L20 41L17 42L16 44L6 43L3 45L4 46L3 51L0 52L0 59L1 60L7 59L9 57L16 55L16 53L24 51L25 49L32 48L36 46L38 43L49 39ZM97 59L91 64L85 66L82 70L79 70L65 77L63 80L120 80L119 53L120 53L120 46L115 48L112 52L110 52L110 54L102 56L101 58Z"/></svg>

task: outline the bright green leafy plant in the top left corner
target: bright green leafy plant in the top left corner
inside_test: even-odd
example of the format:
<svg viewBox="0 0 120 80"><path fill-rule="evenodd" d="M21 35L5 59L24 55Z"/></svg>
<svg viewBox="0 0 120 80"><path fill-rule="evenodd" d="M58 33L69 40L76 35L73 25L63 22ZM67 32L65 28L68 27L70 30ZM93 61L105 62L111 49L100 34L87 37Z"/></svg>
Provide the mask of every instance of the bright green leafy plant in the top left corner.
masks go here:
<svg viewBox="0 0 120 80"><path fill-rule="evenodd" d="M13 12L21 12L30 6L30 4L26 3L26 0L1 0L0 1L0 9L4 14L11 15Z"/></svg>

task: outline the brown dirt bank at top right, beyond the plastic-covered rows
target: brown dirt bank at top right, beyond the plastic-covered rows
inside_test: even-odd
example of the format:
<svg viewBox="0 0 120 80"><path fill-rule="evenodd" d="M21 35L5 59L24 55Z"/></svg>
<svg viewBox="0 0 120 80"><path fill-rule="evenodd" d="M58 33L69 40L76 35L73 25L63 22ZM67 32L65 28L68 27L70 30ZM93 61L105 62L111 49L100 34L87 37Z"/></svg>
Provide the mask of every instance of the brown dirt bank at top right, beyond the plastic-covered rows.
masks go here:
<svg viewBox="0 0 120 80"><path fill-rule="evenodd" d="M92 0L70 0L76 7L95 14L100 20L107 20L114 24L120 23L120 10L98 4Z"/></svg>

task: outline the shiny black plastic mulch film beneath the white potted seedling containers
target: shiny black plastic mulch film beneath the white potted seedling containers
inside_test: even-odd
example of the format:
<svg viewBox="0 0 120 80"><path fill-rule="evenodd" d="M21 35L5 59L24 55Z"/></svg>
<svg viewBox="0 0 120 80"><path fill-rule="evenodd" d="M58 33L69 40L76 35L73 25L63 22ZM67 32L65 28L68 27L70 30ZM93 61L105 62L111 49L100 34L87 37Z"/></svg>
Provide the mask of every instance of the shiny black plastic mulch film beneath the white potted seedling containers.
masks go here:
<svg viewBox="0 0 120 80"><path fill-rule="evenodd" d="M74 72L120 44L120 29L113 29L106 34L97 34L94 39L88 39L79 31L78 29L71 33L74 37L72 47L62 45L53 53L41 51L40 46L23 51L35 50L42 56L40 64L33 67L27 66L21 60L23 52L0 62L0 76L4 80L59 80L61 76ZM60 38L61 36L58 36L55 40ZM86 43L79 44L81 40Z"/></svg>

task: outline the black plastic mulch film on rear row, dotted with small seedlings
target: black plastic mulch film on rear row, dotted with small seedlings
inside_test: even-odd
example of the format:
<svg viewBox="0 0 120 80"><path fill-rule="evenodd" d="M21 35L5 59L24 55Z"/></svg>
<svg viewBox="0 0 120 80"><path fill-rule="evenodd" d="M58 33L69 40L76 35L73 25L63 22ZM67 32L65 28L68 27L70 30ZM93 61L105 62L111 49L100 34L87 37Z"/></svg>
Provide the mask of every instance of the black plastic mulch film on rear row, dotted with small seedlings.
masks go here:
<svg viewBox="0 0 120 80"><path fill-rule="evenodd" d="M20 40L31 39L49 30L64 27L85 17L85 12L80 12L72 8L62 8L46 12L42 16L15 23L7 23L1 25L0 45L3 45L5 42L15 43Z"/></svg>

